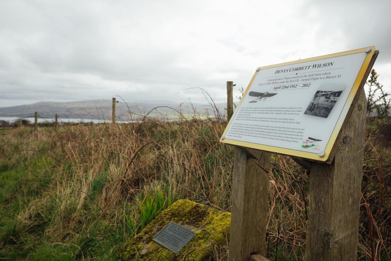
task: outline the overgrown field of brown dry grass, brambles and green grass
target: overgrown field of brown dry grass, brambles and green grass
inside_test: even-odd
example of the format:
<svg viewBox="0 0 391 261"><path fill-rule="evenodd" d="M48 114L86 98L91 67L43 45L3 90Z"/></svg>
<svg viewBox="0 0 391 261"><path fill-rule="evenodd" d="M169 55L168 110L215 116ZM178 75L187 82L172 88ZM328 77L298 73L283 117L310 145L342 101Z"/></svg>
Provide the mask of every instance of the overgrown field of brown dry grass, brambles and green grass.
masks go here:
<svg viewBox="0 0 391 261"><path fill-rule="evenodd" d="M225 121L181 118L0 132L0 259L117 259L118 248L177 199L230 211ZM390 150L368 128L359 260L391 254ZM304 260L310 174L272 155L267 258ZM151 207L152 206L152 209ZM226 260L229 242L212 260Z"/></svg>

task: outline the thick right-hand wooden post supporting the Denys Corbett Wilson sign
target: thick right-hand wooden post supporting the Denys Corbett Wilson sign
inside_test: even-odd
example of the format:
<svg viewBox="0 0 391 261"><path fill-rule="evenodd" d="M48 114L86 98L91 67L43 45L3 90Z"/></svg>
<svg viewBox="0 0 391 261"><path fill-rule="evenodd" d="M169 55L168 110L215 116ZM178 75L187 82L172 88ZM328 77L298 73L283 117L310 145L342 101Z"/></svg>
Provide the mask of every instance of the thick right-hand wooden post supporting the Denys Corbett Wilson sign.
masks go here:
<svg viewBox="0 0 391 261"><path fill-rule="evenodd" d="M357 259L365 121L362 90L332 163L311 163L308 261Z"/></svg>

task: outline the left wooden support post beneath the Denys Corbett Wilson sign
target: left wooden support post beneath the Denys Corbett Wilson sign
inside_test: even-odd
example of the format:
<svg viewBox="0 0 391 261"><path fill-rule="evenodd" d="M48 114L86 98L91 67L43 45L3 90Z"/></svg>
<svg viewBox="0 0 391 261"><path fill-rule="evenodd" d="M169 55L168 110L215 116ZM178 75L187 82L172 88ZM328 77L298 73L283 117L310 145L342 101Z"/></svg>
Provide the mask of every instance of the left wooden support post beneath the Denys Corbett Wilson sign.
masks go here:
<svg viewBox="0 0 391 261"><path fill-rule="evenodd" d="M235 146L229 260L265 255L269 170L269 152Z"/></svg>

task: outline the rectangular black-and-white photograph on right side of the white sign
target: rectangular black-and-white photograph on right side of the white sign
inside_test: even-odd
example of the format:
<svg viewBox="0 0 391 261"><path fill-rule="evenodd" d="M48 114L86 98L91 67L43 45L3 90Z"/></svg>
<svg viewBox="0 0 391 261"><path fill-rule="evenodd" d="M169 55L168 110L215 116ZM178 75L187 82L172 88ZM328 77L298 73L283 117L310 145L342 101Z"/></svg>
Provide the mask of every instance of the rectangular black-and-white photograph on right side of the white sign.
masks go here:
<svg viewBox="0 0 391 261"><path fill-rule="evenodd" d="M342 91L317 91L304 114L327 118Z"/></svg>

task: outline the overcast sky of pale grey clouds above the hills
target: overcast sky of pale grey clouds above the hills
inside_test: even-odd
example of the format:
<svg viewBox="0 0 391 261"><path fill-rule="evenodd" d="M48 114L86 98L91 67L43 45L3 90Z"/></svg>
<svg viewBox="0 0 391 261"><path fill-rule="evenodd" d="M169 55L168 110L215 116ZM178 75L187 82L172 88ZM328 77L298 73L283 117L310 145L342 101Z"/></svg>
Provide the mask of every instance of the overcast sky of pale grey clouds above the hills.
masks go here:
<svg viewBox="0 0 391 261"><path fill-rule="evenodd" d="M391 1L0 0L0 107L226 100L260 66L375 45L391 92ZM236 99L234 98L234 101Z"/></svg>

